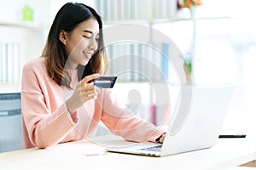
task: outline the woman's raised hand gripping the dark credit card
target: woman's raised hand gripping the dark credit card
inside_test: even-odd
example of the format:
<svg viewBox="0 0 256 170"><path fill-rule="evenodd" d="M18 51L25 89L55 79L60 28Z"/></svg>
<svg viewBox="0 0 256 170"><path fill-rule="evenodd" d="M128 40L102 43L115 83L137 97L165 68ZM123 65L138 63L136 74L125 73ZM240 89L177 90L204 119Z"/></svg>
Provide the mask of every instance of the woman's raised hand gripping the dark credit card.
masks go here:
<svg viewBox="0 0 256 170"><path fill-rule="evenodd" d="M92 74L84 77L74 90L73 95L67 99L67 110L71 115L84 103L90 99L96 99L97 94L100 94L100 88L97 88L93 82L94 79L100 77L99 74Z"/></svg>

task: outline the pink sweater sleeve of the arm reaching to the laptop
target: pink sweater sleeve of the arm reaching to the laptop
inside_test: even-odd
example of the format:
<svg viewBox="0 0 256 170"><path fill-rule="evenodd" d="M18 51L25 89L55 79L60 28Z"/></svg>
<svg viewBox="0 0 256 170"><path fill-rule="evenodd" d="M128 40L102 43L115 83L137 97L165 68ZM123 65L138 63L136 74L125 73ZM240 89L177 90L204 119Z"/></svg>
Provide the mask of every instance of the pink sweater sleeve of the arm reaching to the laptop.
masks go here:
<svg viewBox="0 0 256 170"><path fill-rule="evenodd" d="M113 134L135 142L155 142L161 134L165 133L160 127L144 121L125 109L115 99L111 90L105 90L102 97L103 99L99 101L102 107L102 122Z"/></svg>

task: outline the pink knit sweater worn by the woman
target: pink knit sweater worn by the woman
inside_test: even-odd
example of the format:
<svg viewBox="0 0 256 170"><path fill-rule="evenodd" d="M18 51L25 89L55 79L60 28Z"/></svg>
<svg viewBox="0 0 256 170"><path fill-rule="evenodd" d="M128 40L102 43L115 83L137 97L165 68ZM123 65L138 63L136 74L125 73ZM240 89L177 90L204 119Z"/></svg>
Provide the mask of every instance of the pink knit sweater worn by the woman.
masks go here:
<svg viewBox="0 0 256 170"><path fill-rule="evenodd" d="M70 70L74 89L76 70ZM23 68L22 144L21 148L45 148L53 144L90 138L102 121L116 135L131 141L152 141L163 133L158 127L125 110L111 89L102 89L97 99L87 101L78 110L78 122L67 111L66 100L73 90L57 85L49 78L45 59L38 58Z"/></svg>

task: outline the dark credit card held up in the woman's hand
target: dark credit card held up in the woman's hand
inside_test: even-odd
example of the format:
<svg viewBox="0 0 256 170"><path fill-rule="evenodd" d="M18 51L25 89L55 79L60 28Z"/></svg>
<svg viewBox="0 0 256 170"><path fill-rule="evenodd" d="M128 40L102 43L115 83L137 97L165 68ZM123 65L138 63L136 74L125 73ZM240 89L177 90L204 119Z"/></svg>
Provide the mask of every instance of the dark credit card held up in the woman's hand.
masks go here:
<svg viewBox="0 0 256 170"><path fill-rule="evenodd" d="M117 77L98 77L94 80L94 85L98 88L113 88Z"/></svg>

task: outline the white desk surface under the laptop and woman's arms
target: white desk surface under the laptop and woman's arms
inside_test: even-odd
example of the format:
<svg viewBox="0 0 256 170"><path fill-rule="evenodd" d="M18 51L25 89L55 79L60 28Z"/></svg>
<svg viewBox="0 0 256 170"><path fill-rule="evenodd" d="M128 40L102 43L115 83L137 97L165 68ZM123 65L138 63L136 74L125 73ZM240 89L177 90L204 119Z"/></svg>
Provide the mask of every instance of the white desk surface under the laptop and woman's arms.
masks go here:
<svg viewBox="0 0 256 170"><path fill-rule="evenodd" d="M101 144L97 144L101 143ZM226 169L256 159L254 139L218 139L211 149L166 157L104 152L102 144L127 144L108 135L94 142L80 140L44 150L29 149L0 154L0 169Z"/></svg>

